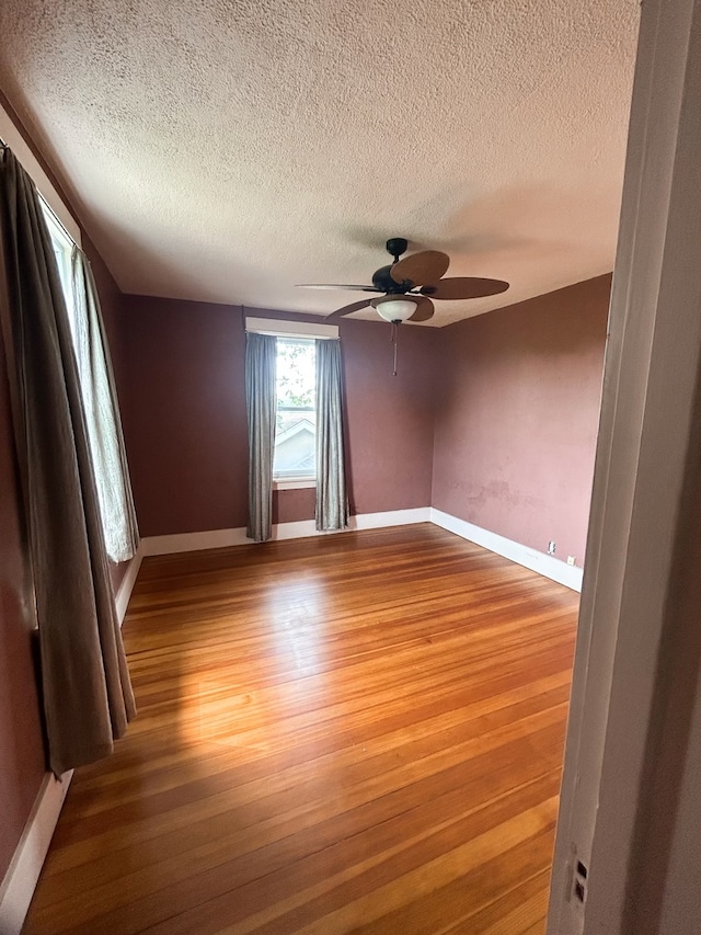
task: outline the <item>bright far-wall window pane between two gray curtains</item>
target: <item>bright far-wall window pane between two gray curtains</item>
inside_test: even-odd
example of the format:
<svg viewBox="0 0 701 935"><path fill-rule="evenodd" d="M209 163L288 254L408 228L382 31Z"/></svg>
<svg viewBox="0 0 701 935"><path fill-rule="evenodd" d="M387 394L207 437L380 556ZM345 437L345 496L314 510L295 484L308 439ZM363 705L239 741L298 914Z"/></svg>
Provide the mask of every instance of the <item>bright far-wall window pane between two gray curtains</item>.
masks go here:
<svg viewBox="0 0 701 935"><path fill-rule="evenodd" d="M277 338L276 480L317 475L317 347L313 339Z"/></svg>

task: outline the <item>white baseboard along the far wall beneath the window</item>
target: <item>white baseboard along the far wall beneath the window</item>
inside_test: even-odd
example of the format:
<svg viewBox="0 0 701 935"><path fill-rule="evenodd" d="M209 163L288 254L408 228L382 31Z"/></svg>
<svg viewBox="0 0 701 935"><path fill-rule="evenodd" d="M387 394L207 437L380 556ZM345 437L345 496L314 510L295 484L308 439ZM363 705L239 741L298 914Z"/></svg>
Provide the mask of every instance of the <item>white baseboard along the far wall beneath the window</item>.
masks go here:
<svg viewBox="0 0 701 935"><path fill-rule="evenodd" d="M391 510L387 513L359 513L350 516L348 529L379 529L382 526L404 526L409 523L427 523L430 508L420 506L413 510ZM273 526L273 540L301 539L308 536L327 536L336 533L319 533L313 520L300 520L296 523L278 523ZM211 529L204 533L179 533L173 536L147 536L141 540L141 549L148 555L171 555L173 552L198 551L199 549L220 549L227 546L251 545L245 527L234 529Z"/></svg>

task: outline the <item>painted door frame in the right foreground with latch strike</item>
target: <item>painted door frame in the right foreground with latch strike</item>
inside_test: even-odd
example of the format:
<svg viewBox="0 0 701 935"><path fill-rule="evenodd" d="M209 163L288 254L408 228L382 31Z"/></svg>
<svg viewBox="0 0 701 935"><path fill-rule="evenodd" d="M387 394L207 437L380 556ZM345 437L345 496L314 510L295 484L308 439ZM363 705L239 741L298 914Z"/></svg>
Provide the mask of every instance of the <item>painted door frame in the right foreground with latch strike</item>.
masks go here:
<svg viewBox="0 0 701 935"><path fill-rule="evenodd" d="M632 920L645 903L640 887L650 881L645 864L653 859L642 829L663 755L660 702L667 725L688 721L698 682L687 679L686 689L669 696L675 664L688 665L679 635L698 628L698 611L685 611L679 594L693 574L680 551L692 509L700 510L701 525L701 494L689 484L698 471L701 384L700 61L699 0L645 0L549 935L658 931L655 912ZM670 795L686 782L683 763L679 756L668 771ZM674 832L667 837L669 857ZM669 860L664 865L673 869ZM659 902L664 883L657 890Z"/></svg>

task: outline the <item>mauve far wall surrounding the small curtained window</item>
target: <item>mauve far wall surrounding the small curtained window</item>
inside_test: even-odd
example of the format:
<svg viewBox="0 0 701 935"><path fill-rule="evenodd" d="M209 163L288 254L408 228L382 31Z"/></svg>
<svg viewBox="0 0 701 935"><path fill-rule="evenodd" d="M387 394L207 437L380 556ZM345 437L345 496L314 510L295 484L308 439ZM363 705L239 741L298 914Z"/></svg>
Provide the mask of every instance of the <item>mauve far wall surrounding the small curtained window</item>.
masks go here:
<svg viewBox="0 0 701 935"><path fill-rule="evenodd" d="M238 306L123 297L120 399L145 536L245 525L243 319ZM341 337L353 512L428 506L437 332L400 333L397 377L389 326L344 321ZM275 522L313 515L313 490L276 492Z"/></svg>

